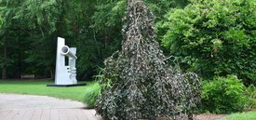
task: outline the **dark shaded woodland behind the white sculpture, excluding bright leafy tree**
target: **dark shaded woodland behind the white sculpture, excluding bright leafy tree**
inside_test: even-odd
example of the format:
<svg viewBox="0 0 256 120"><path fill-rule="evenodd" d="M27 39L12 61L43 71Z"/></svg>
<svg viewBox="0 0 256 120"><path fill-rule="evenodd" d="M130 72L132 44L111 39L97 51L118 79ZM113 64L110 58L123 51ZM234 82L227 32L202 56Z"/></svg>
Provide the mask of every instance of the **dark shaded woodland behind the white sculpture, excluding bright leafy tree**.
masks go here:
<svg viewBox="0 0 256 120"><path fill-rule="evenodd" d="M1 0L0 66L3 79L22 73L54 77L56 38L78 48L77 74L88 79L121 46L125 0ZM186 1L148 0L158 15ZM162 17L162 16L159 16ZM160 19L158 19L160 20Z"/></svg>

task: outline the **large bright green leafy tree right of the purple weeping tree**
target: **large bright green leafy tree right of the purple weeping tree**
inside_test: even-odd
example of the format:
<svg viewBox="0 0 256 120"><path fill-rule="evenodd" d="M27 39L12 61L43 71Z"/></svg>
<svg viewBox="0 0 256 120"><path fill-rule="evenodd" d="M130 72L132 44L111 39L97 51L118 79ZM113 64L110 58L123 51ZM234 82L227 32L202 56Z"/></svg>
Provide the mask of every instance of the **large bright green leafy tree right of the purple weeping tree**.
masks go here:
<svg viewBox="0 0 256 120"><path fill-rule="evenodd" d="M162 44L182 61L184 70L205 79L237 74L256 83L255 0L190 0L173 8L160 30Z"/></svg>

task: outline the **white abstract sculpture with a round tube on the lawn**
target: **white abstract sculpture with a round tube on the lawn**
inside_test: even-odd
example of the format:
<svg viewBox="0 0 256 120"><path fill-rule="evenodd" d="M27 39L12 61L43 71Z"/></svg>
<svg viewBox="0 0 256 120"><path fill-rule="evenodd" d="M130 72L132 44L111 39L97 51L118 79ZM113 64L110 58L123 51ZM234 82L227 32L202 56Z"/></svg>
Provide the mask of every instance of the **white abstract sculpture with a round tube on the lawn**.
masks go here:
<svg viewBox="0 0 256 120"><path fill-rule="evenodd" d="M68 47L65 45L65 39L58 37L57 41L57 55L56 55L56 69L55 69L55 85L75 85L76 68L75 60L77 57L76 47ZM65 57L68 57L68 64L66 65Z"/></svg>

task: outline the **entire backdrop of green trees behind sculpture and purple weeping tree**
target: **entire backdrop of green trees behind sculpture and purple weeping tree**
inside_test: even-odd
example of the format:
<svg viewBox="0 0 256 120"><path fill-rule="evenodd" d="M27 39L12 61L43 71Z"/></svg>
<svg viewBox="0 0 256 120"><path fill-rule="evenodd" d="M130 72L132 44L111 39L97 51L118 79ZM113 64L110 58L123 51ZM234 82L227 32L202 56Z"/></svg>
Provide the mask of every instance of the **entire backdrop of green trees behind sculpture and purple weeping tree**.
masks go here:
<svg viewBox="0 0 256 120"><path fill-rule="evenodd" d="M0 0L1 76L54 77L57 36L77 47L78 79L120 49L126 0ZM255 0L145 0L157 39L183 71L255 84Z"/></svg>

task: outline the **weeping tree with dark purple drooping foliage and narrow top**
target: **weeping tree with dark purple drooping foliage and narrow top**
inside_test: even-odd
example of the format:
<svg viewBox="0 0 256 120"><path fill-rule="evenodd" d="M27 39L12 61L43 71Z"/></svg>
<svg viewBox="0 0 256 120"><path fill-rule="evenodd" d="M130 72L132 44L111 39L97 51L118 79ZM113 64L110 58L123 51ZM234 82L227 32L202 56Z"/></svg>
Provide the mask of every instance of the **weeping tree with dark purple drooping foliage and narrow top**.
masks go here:
<svg viewBox="0 0 256 120"><path fill-rule="evenodd" d="M122 50L106 59L96 110L104 119L193 119L200 80L168 65L155 40L154 15L128 0Z"/></svg>

